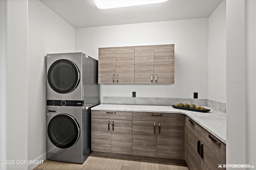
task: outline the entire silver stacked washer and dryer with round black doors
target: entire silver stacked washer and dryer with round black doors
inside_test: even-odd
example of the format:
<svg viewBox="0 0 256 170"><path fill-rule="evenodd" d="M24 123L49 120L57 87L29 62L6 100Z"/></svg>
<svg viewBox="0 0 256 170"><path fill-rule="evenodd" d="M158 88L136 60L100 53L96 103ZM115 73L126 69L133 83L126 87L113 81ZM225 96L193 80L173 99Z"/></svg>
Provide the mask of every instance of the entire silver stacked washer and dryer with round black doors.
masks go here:
<svg viewBox="0 0 256 170"><path fill-rule="evenodd" d="M98 61L84 53L48 54L47 158L83 163L90 154L90 108L98 105Z"/></svg>

